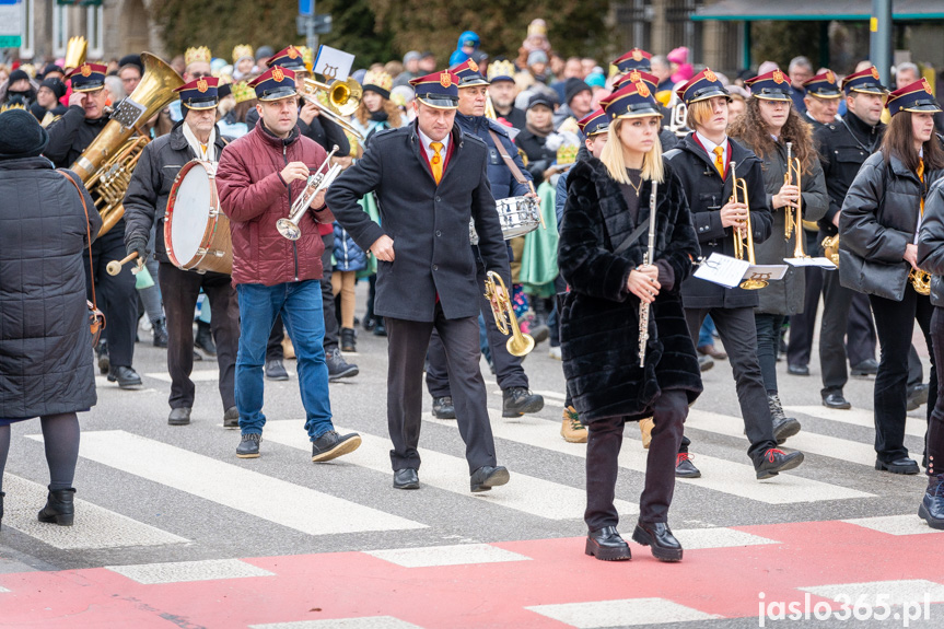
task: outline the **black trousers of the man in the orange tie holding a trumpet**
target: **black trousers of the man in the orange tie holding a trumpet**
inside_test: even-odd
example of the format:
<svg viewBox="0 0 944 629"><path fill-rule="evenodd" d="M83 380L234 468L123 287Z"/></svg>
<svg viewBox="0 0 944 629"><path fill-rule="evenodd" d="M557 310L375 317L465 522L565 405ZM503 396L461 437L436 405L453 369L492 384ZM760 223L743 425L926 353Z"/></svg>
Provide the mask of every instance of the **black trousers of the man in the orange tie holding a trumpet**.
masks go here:
<svg viewBox="0 0 944 629"><path fill-rule="evenodd" d="M387 327L387 424L394 449L394 470L419 469L423 401L423 360L433 329L440 333L452 373L453 403L459 434L466 444L469 474L496 465L494 438L486 405L486 387L479 357L478 319L447 319L436 304L435 321L416 322L385 317Z"/></svg>

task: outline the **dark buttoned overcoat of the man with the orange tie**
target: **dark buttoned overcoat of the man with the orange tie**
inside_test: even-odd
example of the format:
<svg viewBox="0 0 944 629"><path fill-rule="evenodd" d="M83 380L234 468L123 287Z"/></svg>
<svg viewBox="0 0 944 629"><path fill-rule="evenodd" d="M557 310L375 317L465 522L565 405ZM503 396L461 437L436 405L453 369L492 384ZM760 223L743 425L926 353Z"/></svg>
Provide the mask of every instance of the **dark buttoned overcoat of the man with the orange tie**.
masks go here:
<svg viewBox="0 0 944 629"><path fill-rule="evenodd" d="M376 133L363 158L328 189L335 219L365 252L377 238L394 241L393 263L377 260L374 313L433 321L436 295L446 318L478 317L485 287L476 281L469 218L487 270L511 286L508 249L488 179L488 149L454 126L451 156L436 185L417 124ZM358 201L376 191L381 225Z"/></svg>

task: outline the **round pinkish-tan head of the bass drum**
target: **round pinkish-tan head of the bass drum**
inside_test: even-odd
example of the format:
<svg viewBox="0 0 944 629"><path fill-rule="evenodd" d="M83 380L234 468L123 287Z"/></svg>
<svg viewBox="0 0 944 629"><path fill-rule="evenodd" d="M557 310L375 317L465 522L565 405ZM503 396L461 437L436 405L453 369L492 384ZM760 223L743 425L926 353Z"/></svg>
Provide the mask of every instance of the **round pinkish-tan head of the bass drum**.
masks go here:
<svg viewBox="0 0 944 629"><path fill-rule="evenodd" d="M202 245L213 203L210 174L202 164L191 164L184 166L186 172L182 171L170 218L174 257L182 265L187 265Z"/></svg>

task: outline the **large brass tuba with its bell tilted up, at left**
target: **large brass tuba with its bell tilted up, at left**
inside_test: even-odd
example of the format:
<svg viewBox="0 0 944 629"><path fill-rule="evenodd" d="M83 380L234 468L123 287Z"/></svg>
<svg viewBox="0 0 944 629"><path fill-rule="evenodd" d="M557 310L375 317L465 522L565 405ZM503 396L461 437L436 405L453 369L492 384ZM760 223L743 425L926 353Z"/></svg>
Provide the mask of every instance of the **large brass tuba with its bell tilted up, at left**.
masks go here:
<svg viewBox="0 0 944 629"><path fill-rule="evenodd" d="M141 82L118 103L112 119L71 166L102 214L100 236L125 216L121 202L141 151L149 142L141 125L173 102L177 97L174 90L184 84L179 74L154 55L141 53L141 61L144 63ZM137 137L132 138L135 133Z"/></svg>

